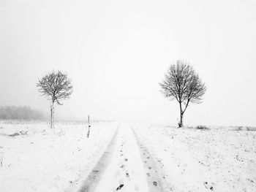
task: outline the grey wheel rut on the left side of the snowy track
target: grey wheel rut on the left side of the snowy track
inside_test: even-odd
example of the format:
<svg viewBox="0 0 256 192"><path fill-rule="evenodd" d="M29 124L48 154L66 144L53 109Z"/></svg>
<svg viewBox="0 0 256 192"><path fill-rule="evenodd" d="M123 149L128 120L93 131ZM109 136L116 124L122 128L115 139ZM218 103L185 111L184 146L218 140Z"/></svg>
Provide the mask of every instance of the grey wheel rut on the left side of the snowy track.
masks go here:
<svg viewBox="0 0 256 192"><path fill-rule="evenodd" d="M83 184L78 190L78 192L91 192L94 191L94 189L97 187L97 184L99 183L99 180L103 172L105 171L106 167L108 166L111 156L113 155L113 148L116 144L119 126L120 125L118 125L118 127L116 128L116 132L113 135L113 138L111 139L110 143L108 144L108 147L106 148L105 152L99 158L99 161L94 166L94 169L92 169L86 180L83 181Z"/></svg>

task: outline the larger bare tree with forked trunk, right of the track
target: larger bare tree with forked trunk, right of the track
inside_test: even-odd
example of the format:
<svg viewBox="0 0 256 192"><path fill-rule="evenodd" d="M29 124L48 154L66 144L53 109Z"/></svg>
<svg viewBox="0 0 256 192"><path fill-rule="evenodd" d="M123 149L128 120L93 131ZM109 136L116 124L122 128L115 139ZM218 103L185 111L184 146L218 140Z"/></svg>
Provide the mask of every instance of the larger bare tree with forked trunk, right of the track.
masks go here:
<svg viewBox="0 0 256 192"><path fill-rule="evenodd" d="M159 85L165 97L178 101L180 108L178 127L182 127L183 115L189 102L200 103L204 93L206 93L206 85L200 80L192 66L181 60L170 66L164 80Z"/></svg>

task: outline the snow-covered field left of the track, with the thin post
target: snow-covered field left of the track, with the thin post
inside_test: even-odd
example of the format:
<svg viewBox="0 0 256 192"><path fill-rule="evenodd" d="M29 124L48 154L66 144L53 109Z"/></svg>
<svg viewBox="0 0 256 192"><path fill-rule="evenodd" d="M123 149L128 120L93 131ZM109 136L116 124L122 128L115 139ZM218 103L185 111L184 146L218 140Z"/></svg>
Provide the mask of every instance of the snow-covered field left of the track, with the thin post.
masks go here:
<svg viewBox="0 0 256 192"><path fill-rule="evenodd" d="M0 191L64 191L75 185L105 150L116 126L94 123L87 139L87 124L57 123L50 129L46 123L1 122Z"/></svg>

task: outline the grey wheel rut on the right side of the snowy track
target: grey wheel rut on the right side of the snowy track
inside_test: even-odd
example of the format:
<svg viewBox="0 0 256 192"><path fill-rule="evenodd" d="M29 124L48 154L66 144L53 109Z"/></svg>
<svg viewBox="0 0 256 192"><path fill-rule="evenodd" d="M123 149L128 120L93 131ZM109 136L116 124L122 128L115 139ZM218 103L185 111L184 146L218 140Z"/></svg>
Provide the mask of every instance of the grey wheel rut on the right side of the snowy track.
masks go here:
<svg viewBox="0 0 256 192"><path fill-rule="evenodd" d="M136 134L134 128L132 128L132 133L134 134L137 145L140 149L140 156L146 170L149 192L172 191L172 188L167 187L167 184L162 181L162 178L165 178L165 176L162 176L162 173L159 171L153 156L143 142L140 141L140 138L138 137L138 134Z"/></svg>

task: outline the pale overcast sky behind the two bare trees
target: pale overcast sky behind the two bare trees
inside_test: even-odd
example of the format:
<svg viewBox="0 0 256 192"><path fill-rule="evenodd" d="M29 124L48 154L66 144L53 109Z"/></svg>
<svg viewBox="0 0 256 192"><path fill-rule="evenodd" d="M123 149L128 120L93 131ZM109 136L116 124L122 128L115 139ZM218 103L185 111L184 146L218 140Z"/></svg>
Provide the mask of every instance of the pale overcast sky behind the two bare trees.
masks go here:
<svg viewBox="0 0 256 192"><path fill-rule="evenodd" d="M36 82L60 69L74 84L59 115L175 125L159 93L177 59L208 87L185 124L256 126L256 1L0 0L0 105L49 111Z"/></svg>

